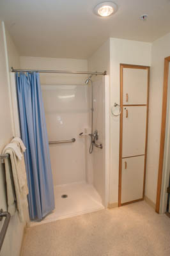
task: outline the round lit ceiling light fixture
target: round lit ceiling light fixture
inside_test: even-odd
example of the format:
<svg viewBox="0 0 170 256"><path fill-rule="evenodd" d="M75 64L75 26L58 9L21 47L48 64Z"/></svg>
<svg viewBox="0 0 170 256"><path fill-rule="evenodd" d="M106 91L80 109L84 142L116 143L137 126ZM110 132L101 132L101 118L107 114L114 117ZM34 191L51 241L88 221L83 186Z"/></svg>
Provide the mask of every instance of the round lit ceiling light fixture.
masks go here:
<svg viewBox="0 0 170 256"><path fill-rule="evenodd" d="M118 10L118 6L115 3L112 2L104 2L97 4L94 8L95 15L101 16L101 17L108 17L111 16L113 13L115 13Z"/></svg>

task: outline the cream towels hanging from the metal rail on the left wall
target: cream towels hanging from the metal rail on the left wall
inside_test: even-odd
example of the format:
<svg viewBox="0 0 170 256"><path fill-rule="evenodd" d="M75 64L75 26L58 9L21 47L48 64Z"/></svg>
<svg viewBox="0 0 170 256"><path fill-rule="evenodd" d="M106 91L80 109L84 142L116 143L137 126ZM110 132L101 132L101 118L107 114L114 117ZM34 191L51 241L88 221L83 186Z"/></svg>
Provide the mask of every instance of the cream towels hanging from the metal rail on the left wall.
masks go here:
<svg viewBox="0 0 170 256"><path fill-rule="evenodd" d="M11 144L15 143L8 144L3 150L3 154L10 154L10 159L4 159L8 211L13 216L17 210L20 221L24 221L22 201L26 202L26 197L28 194L26 168L24 157L19 159L15 153L15 150L13 149L18 147L17 144L15 144L13 147Z"/></svg>

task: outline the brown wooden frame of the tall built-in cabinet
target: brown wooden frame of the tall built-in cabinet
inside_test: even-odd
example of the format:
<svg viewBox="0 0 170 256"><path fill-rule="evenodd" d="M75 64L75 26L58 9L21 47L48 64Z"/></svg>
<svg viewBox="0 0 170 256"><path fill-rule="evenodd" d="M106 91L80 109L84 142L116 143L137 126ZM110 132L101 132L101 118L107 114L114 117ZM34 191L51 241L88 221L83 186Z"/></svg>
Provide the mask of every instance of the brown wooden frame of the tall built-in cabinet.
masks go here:
<svg viewBox="0 0 170 256"><path fill-rule="evenodd" d="M148 90L147 90L147 104L146 105L123 105L123 68L139 68L148 70ZM137 202L144 199L144 188L145 188L145 178L146 178L146 155L147 155L147 142L148 142L148 106L149 106L149 88L150 88L150 67L139 66L139 65L128 65L120 64L120 106L123 109L124 106L147 106L146 114L146 140L145 140L145 154L144 154L144 182L143 182L143 198L134 200L132 202ZM118 206L130 204L132 202L127 202L121 204L121 169L122 169L122 139L123 139L123 111L120 115L120 163L119 163L119 189L118 189Z"/></svg>

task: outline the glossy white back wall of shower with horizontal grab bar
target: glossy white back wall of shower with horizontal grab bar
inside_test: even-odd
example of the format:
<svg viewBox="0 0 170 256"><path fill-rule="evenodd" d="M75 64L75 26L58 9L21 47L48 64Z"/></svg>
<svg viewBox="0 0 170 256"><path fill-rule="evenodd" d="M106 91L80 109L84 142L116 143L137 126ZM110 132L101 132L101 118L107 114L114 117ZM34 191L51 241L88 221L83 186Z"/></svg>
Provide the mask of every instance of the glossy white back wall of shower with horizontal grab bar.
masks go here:
<svg viewBox="0 0 170 256"><path fill-rule="evenodd" d="M42 94L49 141L76 140L49 145L54 186L85 182L86 151L79 133L88 127L88 86L42 85Z"/></svg>

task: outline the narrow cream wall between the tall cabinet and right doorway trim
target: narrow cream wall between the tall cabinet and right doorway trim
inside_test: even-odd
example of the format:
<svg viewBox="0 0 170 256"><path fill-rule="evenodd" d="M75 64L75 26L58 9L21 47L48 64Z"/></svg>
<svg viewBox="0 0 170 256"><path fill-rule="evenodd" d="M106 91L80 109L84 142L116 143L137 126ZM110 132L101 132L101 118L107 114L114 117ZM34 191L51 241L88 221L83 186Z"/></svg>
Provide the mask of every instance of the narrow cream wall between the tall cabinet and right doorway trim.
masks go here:
<svg viewBox="0 0 170 256"><path fill-rule="evenodd" d="M148 157L146 169L146 196L156 202L164 58L170 56L170 33L152 44L150 76L150 108L148 127Z"/></svg>

